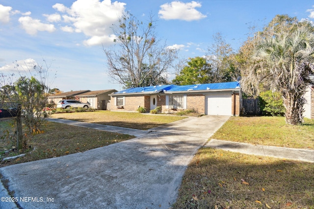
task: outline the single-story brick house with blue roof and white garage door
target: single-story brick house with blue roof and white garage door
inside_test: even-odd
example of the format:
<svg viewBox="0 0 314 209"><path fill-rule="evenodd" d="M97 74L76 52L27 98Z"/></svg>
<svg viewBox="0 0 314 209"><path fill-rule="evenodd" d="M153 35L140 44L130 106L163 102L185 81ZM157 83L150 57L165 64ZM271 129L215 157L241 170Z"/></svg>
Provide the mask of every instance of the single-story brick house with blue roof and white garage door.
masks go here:
<svg viewBox="0 0 314 209"><path fill-rule="evenodd" d="M241 89L238 82L160 85L111 93L111 111L135 112L161 107L163 113L194 109L205 115L239 116Z"/></svg>

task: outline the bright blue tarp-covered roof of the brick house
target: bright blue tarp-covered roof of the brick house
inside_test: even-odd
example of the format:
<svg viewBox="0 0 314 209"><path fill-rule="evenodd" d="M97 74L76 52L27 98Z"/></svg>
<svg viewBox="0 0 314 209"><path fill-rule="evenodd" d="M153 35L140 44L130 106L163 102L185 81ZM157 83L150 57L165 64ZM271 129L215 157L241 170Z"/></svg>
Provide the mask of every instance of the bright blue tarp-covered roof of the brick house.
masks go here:
<svg viewBox="0 0 314 209"><path fill-rule="evenodd" d="M228 90L228 89L239 89L240 84L235 82L225 83L212 83L212 84L195 84L195 85L159 85L159 86L148 86L148 87L137 87L115 92L113 94L132 94L132 93L166 93L166 92L189 92L189 91L210 91L210 90Z"/></svg>

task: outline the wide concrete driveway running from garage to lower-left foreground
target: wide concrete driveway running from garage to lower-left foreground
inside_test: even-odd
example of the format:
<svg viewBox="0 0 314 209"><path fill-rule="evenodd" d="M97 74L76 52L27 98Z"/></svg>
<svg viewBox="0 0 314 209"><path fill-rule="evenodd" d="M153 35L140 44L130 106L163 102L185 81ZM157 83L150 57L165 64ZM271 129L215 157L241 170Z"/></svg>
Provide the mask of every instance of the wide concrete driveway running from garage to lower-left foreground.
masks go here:
<svg viewBox="0 0 314 209"><path fill-rule="evenodd" d="M167 209L193 155L228 118L191 117L83 153L2 167L1 181L23 209Z"/></svg>

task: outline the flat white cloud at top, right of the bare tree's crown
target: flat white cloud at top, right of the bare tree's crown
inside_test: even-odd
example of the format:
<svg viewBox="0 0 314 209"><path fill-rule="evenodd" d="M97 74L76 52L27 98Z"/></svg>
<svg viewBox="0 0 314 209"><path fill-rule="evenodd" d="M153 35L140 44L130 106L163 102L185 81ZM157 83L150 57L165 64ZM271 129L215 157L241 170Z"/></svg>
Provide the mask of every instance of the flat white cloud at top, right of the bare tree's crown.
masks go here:
<svg viewBox="0 0 314 209"><path fill-rule="evenodd" d="M196 10L196 7L201 7L202 4L196 1L183 3L181 1L172 1L160 6L158 12L159 18L165 20L184 20L195 21L206 18L201 12Z"/></svg>

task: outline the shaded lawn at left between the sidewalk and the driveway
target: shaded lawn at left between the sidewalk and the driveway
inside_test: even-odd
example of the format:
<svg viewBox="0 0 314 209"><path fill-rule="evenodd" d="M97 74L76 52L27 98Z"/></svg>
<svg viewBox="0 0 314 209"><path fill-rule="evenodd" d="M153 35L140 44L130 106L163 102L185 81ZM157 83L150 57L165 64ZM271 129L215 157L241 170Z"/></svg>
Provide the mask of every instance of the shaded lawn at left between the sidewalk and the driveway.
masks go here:
<svg viewBox="0 0 314 209"><path fill-rule="evenodd" d="M27 149L24 149L22 152L8 152L12 149L12 144L16 143L16 137L7 134L8 132L11 134L14 133L12 123L14 123L14 120L1 121L0 167L84 152L86 150L134 138L134 136L125 134L47 121L41 127L40 134L31 137L27 135L24 136L28 139ZM7 151L7 153L5 151ZM23 153L26 154L26 156L1 161L5 157L16 156Z"/></svg>

